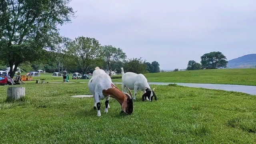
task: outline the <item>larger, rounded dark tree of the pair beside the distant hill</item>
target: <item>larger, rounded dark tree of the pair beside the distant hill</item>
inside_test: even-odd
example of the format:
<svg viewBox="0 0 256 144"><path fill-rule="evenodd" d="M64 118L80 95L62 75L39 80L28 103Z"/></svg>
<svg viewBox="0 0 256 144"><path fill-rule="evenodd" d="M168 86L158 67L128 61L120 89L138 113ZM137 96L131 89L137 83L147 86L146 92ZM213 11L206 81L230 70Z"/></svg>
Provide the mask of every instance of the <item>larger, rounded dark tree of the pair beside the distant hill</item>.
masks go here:
<svg viewBox="0 0 256 144"><path fill-rule="evenodd" d="M226 56L222 52L210 52L201 56L201 65L205 69L226 68L228 64Z"/></svg>

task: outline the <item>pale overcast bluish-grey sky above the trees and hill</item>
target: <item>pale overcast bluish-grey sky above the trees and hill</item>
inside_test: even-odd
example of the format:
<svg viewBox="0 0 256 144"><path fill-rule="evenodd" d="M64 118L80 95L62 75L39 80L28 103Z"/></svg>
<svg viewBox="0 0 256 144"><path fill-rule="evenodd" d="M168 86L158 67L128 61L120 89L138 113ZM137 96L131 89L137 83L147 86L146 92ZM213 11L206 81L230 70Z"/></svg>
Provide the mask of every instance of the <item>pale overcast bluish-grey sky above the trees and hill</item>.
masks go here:
<svg viewBox="0 0 256 144"><path fill-rule="evenodd" d="M228 60L256 53L256 0L72 0L77 18L60 27L69 38L96 38L127 58L183 69L222 52Z"/></svg>

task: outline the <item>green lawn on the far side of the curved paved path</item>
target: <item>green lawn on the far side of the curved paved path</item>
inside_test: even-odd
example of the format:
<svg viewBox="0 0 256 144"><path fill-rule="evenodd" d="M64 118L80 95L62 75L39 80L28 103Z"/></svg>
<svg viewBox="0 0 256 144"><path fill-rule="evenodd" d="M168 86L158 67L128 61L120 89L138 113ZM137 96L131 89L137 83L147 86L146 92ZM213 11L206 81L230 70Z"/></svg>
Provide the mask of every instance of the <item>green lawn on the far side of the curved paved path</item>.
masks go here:
<svg viewBox="0 0 256 144"><path fill-rule="evenodd" d="M125 71L125 70L124 70ZM62 77L52 77L52 74L40 74L34 79L48 78L46 82L62 82ZM173 82L173 83L202 83L202 84L240 84L256 86L256 68L248 69L215 69L191 70L178 72L160 72L144 74L148 82ZM88 80L72 80L70 82L88 82ZM122 79L112 79L113 82L122 82Z"/></svg>

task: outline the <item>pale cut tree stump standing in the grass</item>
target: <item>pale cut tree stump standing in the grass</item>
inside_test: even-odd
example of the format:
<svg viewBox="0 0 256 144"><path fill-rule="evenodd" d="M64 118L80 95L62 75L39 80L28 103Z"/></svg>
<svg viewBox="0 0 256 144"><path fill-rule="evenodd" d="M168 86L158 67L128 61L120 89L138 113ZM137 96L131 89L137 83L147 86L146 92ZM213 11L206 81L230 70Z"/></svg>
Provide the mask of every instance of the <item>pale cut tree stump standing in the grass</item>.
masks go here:
<svg viewBox="0 0 256 144"><path fill-rule="evenodd" d="M18 100L25 96L25 87L9 87L7 89L8 100Z"/></svg>

